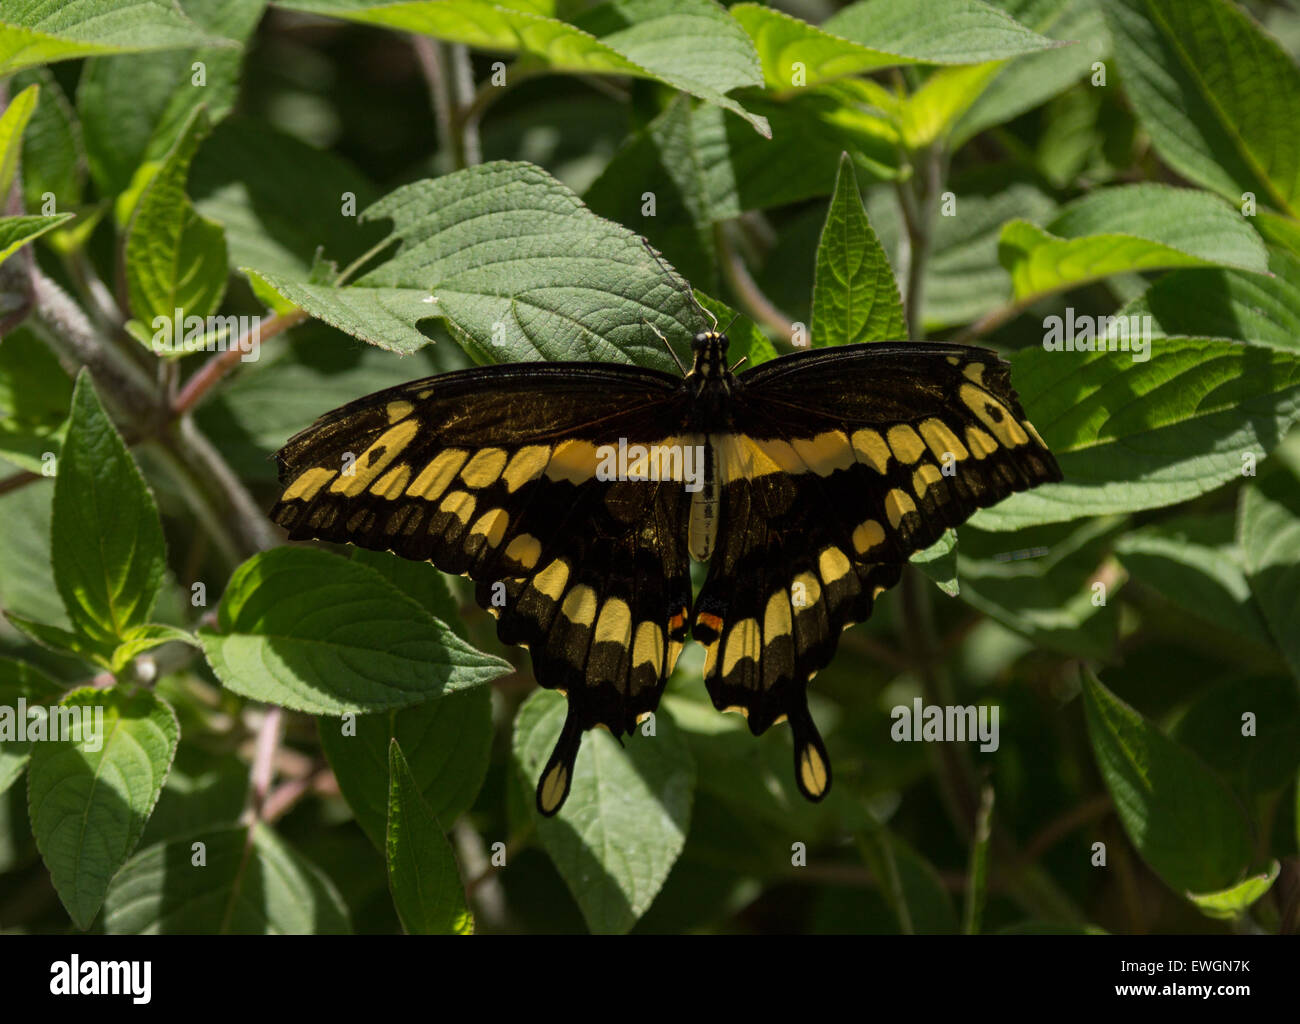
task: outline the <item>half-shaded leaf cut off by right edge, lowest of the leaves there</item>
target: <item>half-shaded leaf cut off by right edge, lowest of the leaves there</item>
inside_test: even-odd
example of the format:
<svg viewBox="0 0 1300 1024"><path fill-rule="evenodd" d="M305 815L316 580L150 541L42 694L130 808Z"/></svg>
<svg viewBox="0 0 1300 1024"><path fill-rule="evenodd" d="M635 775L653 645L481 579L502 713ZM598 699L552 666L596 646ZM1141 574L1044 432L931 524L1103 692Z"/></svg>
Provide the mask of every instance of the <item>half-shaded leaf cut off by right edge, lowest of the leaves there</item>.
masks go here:
<svg viewBox="0 0 1300 1024"><path fill-rule="evenodd" d="M1291 672L1300 678L1300 480L1265 473L1242 494L1238 535L1251 591Z"/></svg>

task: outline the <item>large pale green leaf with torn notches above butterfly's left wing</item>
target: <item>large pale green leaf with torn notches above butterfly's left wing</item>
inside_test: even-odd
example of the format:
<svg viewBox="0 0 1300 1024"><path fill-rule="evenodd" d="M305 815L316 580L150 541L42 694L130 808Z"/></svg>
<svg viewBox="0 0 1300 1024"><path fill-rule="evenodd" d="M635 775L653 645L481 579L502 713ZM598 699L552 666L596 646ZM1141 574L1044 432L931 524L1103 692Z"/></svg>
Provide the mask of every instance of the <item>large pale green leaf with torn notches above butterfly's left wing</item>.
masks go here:
<svg viewBox="0 0 1300 1024"><path fill-rule="evenodd" d="M259 277L312 316L398 352L426 344L416 324L441 316L485 363L616 360L671 370L645 321L682 340L703 326L682 282L637 235L593 214L532 164L415 182L363 218L391 220L400 247L355 283Z"/></svg>

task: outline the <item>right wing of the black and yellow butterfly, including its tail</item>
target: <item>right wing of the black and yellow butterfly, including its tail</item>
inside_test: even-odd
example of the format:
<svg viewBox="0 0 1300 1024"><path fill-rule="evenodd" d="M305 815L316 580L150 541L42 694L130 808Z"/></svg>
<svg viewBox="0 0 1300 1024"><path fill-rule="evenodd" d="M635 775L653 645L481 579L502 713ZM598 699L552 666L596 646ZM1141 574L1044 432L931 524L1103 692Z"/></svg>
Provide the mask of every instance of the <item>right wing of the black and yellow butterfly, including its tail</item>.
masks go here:
<svg viewBox="0 0 1300 1024"><path fill-rule="evenodd" d="M806 689L907 557L1013 491L1061 480L994 352L874 343L738 378L712 438L722 534L693 612L714 704L788 717L796 780L831 785Z"/></svg>

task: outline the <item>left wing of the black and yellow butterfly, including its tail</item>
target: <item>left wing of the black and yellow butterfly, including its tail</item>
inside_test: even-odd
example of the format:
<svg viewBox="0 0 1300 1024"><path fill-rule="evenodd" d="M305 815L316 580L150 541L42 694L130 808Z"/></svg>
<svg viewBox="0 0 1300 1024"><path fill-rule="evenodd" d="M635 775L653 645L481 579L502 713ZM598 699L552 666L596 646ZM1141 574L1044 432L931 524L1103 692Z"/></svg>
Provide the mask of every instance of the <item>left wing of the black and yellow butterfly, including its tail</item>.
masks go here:
<svg viewBox="0 0 1300 1024"><path fill-rule="evenodd" d="M537 681L568 694L538 784L568 794L585 729L653 711L686 633L689 494L679 478L602 478L604 446L684 444L680 379L608 364L514 364L359 399L277 454L272 518L468 576ZM680 467L679 467L680 468Z"/></svg>

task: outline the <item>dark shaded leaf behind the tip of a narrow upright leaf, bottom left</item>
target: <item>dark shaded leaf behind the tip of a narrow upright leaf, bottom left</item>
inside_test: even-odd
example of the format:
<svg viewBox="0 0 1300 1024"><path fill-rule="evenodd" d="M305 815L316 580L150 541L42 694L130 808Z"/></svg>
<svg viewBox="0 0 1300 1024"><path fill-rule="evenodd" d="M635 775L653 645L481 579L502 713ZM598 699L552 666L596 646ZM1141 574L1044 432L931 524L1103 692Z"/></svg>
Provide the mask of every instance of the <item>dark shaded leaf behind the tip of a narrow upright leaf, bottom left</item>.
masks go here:
<svg viewBox="0 0 1300 1024"><path fill-rule="evenodd" d="M407 751L408 771L430 812L451 825L473 804L488 773L491 691L477 686L441 700L355 720L322 716L317 726L325 756L356 815L356 824L382 850L390 741L400 742Z"/></svg>

